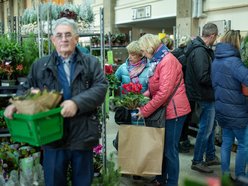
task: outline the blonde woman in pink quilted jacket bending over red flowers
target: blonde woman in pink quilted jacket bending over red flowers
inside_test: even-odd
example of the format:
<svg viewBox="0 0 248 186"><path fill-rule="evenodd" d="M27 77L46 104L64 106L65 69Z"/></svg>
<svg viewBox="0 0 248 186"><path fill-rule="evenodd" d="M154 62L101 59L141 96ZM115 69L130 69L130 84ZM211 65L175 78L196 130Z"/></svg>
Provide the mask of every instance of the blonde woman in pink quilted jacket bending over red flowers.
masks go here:
<svg viewBox="0 0 248 186"><path fill-rule="evenodd" d="M179 84L166 108L165 148L162 175L156 176L156 185L177 186L179 177L178 144L186 115L191 111L186 96L180 62L161 43L156 35L145 34L139 39L144 55L150 59L148 90L151 100L139 108L139 117L148 117L161 105L166 104L173 90Z"/></svg>

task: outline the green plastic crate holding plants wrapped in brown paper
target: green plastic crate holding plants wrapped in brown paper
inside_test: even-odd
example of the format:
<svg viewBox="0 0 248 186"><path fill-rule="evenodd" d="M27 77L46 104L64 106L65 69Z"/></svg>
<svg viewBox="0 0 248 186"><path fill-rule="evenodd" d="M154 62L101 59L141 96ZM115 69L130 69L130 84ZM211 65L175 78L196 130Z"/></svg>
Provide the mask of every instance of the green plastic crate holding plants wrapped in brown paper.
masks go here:
<svg viewBox="0 0 248 186"><path fill-rule="evenodd" d="M58 92L30 90L23 96L13 97L17 113L13 119L5 118L14 141L41 146L63 136L61 108L57 107L62 96Z"/></svg>

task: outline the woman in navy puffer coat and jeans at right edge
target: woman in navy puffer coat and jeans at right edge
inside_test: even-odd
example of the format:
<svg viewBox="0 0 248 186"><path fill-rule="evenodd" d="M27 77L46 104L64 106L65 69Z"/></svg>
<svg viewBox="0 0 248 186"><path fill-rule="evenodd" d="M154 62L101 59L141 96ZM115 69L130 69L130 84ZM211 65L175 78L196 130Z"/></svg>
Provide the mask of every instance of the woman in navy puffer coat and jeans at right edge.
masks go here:
<svg viewBox="0 0 248 186"><path fill-rule="evenodd" d="M216 119L222 128L221 170L230 174L230 158L234 139L238 141L235 176L245 176L248 126L248 102L241 84L248 86L248 68L240 58L240 33L229 30L216 46L212 64Z"/></svg>

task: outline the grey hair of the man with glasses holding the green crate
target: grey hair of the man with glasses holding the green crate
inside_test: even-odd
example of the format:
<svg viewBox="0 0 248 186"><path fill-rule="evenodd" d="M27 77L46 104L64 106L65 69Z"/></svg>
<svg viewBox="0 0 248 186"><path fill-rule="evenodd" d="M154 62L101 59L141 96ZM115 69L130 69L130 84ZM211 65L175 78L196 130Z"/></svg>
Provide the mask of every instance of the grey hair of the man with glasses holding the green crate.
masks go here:
<svg viewBox="0 0 248 186"><path fill-rule="evenodd" d="M73 20L73 19L68 19L66 17L62 17L60 19L57 19L54 24L53 24L53 27L52 27L52 33L53 35L56 35L56 28L57 26L59 25L68 25L72 28L72 31L73 31L73 34L78 34L78 25L77 23Z"/></svg>

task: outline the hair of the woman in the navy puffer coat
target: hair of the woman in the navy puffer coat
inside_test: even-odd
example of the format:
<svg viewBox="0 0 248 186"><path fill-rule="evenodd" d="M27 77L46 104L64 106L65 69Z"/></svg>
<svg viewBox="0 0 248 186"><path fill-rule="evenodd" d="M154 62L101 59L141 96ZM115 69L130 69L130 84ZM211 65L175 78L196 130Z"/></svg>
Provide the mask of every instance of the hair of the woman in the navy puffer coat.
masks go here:
<svg viewBox="0 0 248 186"><path fill-rule="evenodd" d="M240 49L241 35L239 30L228 30L220 39L220 42L230 43L232 46Z"/></svg>

